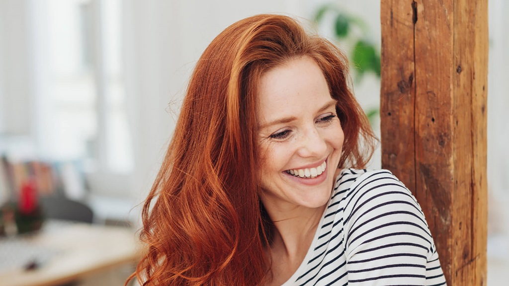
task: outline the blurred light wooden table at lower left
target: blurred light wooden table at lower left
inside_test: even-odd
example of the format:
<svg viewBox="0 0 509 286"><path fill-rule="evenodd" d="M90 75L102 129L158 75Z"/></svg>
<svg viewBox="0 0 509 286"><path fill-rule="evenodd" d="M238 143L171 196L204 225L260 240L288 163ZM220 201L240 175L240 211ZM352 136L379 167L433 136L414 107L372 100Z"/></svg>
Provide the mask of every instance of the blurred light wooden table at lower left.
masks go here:
<svg viewBox="0 0 509 286"><path fill-rule="evenodd" d="M58 285L134 263L141 253L134 231L125 227L66 223L19 239L57 252L37 269L18 266L0 273L1 286Z"/></svg>

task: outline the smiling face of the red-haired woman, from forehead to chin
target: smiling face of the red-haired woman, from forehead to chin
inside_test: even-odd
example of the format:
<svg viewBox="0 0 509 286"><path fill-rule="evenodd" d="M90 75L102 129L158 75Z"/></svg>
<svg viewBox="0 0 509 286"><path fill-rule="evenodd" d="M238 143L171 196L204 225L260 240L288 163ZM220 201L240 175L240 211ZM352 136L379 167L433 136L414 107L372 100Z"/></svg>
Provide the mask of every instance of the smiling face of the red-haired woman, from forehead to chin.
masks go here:
<svg viewBox="0 0 509 286"><path fill-rule="evenodd" d="M344 139L335 106L322 71L306 56L261 77L261 198L269 212L328 202Z"/></svg>

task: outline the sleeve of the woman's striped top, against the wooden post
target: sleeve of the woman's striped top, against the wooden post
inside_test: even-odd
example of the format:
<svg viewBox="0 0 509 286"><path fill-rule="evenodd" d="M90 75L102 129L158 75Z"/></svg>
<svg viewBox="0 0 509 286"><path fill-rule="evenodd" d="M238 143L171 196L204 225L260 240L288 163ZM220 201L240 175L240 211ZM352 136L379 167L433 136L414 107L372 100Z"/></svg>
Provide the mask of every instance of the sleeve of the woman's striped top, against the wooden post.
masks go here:
<svg viewBox="0 0 509 286"><path fill-rule="evenodd" d="M411 192L390 171L363 174L345 207L351 285L445 285L428 224Z"/></svg>

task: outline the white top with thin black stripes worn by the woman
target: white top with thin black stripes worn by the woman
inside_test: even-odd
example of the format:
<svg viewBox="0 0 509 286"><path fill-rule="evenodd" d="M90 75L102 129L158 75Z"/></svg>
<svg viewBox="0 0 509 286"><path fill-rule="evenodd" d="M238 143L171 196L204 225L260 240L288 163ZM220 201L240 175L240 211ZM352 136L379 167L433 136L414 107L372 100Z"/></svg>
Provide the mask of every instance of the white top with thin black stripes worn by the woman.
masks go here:
<svg viewBox="0 0 509 286"><path fill-rule="evenodd" d="M388 170L344 169L289 285L445 285L445 278L403 183Z"/></svg>

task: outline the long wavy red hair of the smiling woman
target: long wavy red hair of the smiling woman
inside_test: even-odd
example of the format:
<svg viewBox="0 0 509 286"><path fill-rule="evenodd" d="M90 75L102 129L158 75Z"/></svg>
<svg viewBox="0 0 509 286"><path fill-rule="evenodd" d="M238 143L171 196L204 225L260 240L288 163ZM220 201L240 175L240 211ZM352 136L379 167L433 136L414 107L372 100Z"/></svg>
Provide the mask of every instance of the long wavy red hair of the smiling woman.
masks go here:
<svg viewBox="0 0 509 286"><path fill-rule="evenodd" d="M338 167L362 168L375 136L349 89L348 62L294 19L257 15L219 34L196 64L175 134L145 202L136 272L143 285L261 285L271 222L259 199L256 96L261 75L309 56L345 133ZM126 282L127 283L127 282Z"/></svg>

